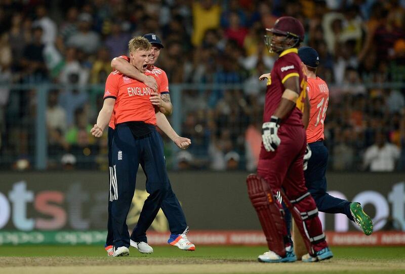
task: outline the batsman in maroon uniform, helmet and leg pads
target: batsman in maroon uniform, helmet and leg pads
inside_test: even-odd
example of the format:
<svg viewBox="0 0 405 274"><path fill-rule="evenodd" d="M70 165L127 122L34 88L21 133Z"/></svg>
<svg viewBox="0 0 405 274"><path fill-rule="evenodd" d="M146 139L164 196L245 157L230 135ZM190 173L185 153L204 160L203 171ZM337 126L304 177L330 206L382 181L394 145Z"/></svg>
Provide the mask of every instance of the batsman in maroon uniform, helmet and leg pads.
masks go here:
<svg viewBox="0 0 405 274"><path fill-rule="evenodd" d="M247 178L248 193L259 216L269 251L259 255L261 262L293 262L297 260L290 244L277 191L285 190L283 200L289 206L308 254L304 262L329 259L333 256L322 233L315 201L305 187L303 157L306 135L303 113L308 122L309 101L306 76L298 57L304 39L302 24L293 17L279 18L266 29L269 50L279 54L267 81L263 114L262 146L257 175Z"/></svg>

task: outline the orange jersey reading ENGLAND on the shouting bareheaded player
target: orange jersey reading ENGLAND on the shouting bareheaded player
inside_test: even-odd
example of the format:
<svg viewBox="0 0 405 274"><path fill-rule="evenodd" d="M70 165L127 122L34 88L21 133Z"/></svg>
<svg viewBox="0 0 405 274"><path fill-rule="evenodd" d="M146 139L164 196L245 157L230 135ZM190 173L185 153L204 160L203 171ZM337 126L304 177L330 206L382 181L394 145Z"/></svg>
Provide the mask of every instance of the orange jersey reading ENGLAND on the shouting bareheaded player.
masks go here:
<svg viewBox="0 0 405 274"><path fill-rule="evenodd" d="M145 74L156 77L152 73ZM105 83L104 99L115 98L112 118L114 127L112 128L114 129L117 124L130 121L143 121L156 125L154 107L149 100L151 92L152 90L144 83L118 71L111 72Z"/></svg>

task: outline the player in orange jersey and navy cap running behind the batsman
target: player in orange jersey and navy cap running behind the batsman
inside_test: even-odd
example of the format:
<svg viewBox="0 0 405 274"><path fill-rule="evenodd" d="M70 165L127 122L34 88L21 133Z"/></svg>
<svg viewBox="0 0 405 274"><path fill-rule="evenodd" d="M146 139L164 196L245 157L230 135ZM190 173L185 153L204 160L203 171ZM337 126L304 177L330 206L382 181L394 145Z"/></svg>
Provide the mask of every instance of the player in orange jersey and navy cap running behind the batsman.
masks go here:
<svg viewBox="0 0 405 274"><path fill-rule="evenodd" d="M298 55L307 76L307 93L311 105L309 124L306 129L307 142L311 149L311 157L305 169L305 185L316 202L319 211L326 213L342 213L355 222L366 235L373 233L373 221L357 202L349 202L329 195L327 191L326 169L328 165L328 149L323 144L324 123L329 102L328 85L316 76L319 56L309 46L301 47Z"/></svg>

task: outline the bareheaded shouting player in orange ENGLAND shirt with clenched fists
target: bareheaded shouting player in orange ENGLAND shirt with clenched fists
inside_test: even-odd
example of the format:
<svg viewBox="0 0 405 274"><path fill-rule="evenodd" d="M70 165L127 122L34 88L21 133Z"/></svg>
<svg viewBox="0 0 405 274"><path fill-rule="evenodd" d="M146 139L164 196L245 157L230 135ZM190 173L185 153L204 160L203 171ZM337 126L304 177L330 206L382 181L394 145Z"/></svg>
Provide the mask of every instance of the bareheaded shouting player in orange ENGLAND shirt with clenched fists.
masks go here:
<svg viewBox="0 0 405 274"><path fill-rule="evenodd" d="M144 37L129 42L130 64L145 73L150 62L151 44ZM152 73L149 73L152 75ZM111 142L110 201L111 225L114 239L113 256L129 254L130 236L126 224L127 214L135 191L136 173L141 165L147 178L150 194L143 207L145 218L138 226L147 230L153 222L170 184L166 172L163 143L155 129L157 125L180 148L190 140L179 137L165 115L155 111L149 97L152 90L144 83L117 71L106 81L104 104L91 132L100 137L114 113L115 129Z"/></svg>

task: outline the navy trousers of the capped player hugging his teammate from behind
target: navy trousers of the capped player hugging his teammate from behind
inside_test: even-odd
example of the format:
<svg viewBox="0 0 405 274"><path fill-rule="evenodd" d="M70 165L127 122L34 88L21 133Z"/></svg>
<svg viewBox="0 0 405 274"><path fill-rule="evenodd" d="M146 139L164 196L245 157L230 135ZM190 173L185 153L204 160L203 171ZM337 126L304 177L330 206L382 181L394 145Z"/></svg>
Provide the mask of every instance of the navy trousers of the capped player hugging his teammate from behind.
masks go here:
<svg viewBox="0 0 405 274"><path fill-rule="evenodd" d="M157 132L156 132L157 133ZM111 152L111 145L112 145L112 136L114 134L114 130L112 128L108 128L108 162L109 166L112 167L112 152ZM163 141L161 140L160 135L157 133L157 139L159 139L158 144L161 145L161 149L163 151ZM150 178L148 177L147 173L147 167L145 166L145 162L143 160L140 161L140 164L142 166L142 169L145 172L146 175L146 191L150 194L152 191L149 187L149 181ZM162 166L165 171L166 171L166 163ZM170 181L167 178L169 182L169 188L167 190L166 196L164 197L163 201L161 202L161 208L168 219L169 222L169 229L172 234L181 234L184 232L184 230L187 228L187 223L186 223L186 218L183 212L183 209L180 205L179 200L177 199L176 195L174 194ZM153 184L153 183L152 183ZM110 194L112 192L110 191ZM145 220L149 220L149 214L150 211L148 210L148 205L145 203L144 207L142 208L138 224L134 228L132 234L131 234L131 239L135 242L147 242L146 238L146 230L150 226L146 226L145 224L148 224L149 222L145 222ZM154 218L154 217L153 217ZM153 220L152 220L153 222ZM108 202L108 223L107 223L107 239L106 239L106 246L107 245L113 245L114 243L114 237L112 233L112 222L111 222L111 201Z"/></svg>

